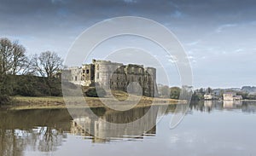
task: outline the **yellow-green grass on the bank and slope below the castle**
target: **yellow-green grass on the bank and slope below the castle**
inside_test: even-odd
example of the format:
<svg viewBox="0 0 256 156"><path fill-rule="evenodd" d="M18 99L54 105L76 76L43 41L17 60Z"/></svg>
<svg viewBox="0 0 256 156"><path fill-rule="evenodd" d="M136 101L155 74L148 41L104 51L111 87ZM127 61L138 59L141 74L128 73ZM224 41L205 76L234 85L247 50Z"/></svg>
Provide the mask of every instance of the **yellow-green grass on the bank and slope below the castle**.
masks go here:
<svg viewBox="0 0 256 156"><path fill-rule="evenodd" d="M129 101L127 101L128 96L127 93L122 91L113 91L113 96L118 99L120 102L113 101L110 96L104 97L104 101L108 101L115 105L119 105L119 103L124 104L126 101L127 106L129 105L129 101L136 101L137 95L131 95ZM133 98L134 97L134 98ZM68 98L71 104L69 107L105 107L102 101L98 97L85 97L85 102L78 102L78 97L73 96ZM177 103L185 103L185 101L177 101L173 99L164 99L164 98L154 98L154 97L141 97L136 107L148 107L151 106L154 101L154 105L172 105ZM14 110L25 110L25 109L57 109L57 108L66 108L66 104L61 96L45 96L45 97L27 97L27 96L15 96L14 104L9 107L9 109Z"/></svg>

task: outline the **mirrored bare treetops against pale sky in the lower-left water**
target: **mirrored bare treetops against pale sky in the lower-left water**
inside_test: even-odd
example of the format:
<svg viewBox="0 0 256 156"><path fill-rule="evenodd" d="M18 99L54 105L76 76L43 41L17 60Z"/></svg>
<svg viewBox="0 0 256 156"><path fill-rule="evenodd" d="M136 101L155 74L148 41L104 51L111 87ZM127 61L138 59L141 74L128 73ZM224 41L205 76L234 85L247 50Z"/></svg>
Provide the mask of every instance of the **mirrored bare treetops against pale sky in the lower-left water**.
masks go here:
<svg viewBox="0 0 256 156"><path fill-rule="evenodd" d="M51 127L34 130L1 130L0 155L22 155L26 148L41 152L55 151L61 146L65 133Z"/></svg>

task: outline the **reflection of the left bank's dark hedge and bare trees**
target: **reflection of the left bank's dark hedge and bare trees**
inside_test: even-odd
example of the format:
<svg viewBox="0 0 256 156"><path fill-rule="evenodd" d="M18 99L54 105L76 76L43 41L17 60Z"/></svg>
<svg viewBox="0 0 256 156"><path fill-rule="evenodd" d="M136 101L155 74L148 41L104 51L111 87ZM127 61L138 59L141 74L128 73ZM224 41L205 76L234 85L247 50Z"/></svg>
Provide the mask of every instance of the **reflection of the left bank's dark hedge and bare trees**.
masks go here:
<svg viewBox="0 0 256 156"><path fill-rule="evenodd" d="M70 130L67 110L0 112L0 118L0 155L55 151Z"/></svg>

